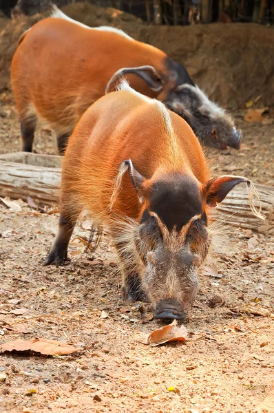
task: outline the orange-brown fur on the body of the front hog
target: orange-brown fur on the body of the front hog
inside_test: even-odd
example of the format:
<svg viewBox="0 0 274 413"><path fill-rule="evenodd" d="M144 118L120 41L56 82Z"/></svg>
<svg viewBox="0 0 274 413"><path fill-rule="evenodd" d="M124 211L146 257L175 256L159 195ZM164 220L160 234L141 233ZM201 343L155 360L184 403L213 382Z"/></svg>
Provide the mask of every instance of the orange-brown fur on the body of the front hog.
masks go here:
<svg viewBox="0 0 274 413"><path fill-rule="evenodd" d="M146 205L140 206L128 173L112 211L109 209L114 179L124 160L131 158L147 178L147 191L157 176L172 171L194 176L201 185L207 182L209 170L198 139L185 120L173 112L169 115L175 142L162 127L156 101L148 102L126 90L98 100L85 112L68 144L63 192L76 191L76 202L98 220L102 217L107 222L111 215L138 220ZM173 145L178 150L176 158L171 156Z"/></svg>

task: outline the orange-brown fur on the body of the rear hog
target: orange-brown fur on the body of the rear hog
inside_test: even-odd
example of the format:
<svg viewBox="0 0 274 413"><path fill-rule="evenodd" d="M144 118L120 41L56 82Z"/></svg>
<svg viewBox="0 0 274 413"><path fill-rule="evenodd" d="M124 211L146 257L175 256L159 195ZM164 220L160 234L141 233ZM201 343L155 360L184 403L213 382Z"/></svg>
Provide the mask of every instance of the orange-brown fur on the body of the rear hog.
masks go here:
<svg viewBox="0 0 274 413"><path fill-rule="evenodd" d="M85 109L105 94L116 70L145 62L165 74L166 56L114 32L83 28L65 19L39 21L21 36L12 59L19 118L33 112L60 133L72 131ZM156 96L142 79L133 75L129 79L140 93Z"/></svg>

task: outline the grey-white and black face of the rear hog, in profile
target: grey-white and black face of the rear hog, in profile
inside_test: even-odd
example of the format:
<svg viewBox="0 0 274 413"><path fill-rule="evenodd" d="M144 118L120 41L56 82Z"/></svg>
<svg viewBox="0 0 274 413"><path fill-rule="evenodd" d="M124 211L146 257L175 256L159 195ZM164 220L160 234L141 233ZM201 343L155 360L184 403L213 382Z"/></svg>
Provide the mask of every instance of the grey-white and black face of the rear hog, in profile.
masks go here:
<svg viewBox="0 0 274 413"><path fill-rule="evenodd" d="M240 149L242 131L237 130L224 109L215 105L194 85L180 85L165 98L165 105L182 116L203 145Z"/></svg>

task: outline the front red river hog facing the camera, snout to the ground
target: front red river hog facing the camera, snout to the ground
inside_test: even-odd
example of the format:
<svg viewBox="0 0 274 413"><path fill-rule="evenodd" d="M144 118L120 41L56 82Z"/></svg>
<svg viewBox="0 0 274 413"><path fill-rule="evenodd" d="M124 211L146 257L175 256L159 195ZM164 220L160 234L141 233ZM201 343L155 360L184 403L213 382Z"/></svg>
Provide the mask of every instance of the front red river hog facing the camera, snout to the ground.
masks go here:
<svg viewBox="0 0 274 413"><path fill-rule="evenodd" d="M87 109L67 145L59 232L45 265L67 258L77 217L87 210L112 236L125 296L147 297L156 318L183 319L211 244L209 209L240 182L252 195L242 176L211 178L185 120L123 82Z"/></svg>

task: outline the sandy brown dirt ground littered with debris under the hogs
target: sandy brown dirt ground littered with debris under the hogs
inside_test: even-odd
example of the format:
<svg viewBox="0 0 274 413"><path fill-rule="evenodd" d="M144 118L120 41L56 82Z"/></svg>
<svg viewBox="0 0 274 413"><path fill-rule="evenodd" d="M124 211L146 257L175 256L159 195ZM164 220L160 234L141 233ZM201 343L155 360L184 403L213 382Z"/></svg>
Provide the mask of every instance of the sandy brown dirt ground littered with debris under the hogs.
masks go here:
<svg viewBox="0 0 274 413"><path fill-rule="evenodd" d="M216 171L274 185L271 120L251 125L243 112L234 115L242 149L208 150ZM4 92L0 123L1 153L19 151L12 96ZM56 153L48 129L38 131L34 150ZM0 343L40 337L79 350L64 357L0 354L0 412L255 412L274 380L273 237L229 230L208 263L217 276L200 271L187 341L152 348L141 342L143 333L162 323L150 320L149 304L123 300L107 234L96 253L83 255L74 240L70 264L43 267L58 214L19 204L18 212L0 205ZM87 236L89 226L83 218L74 235ZM211 308L212 299L222 306ZM244 313L250 303L266 315ZM17 324L12 330L7 323Z"/></svg>

